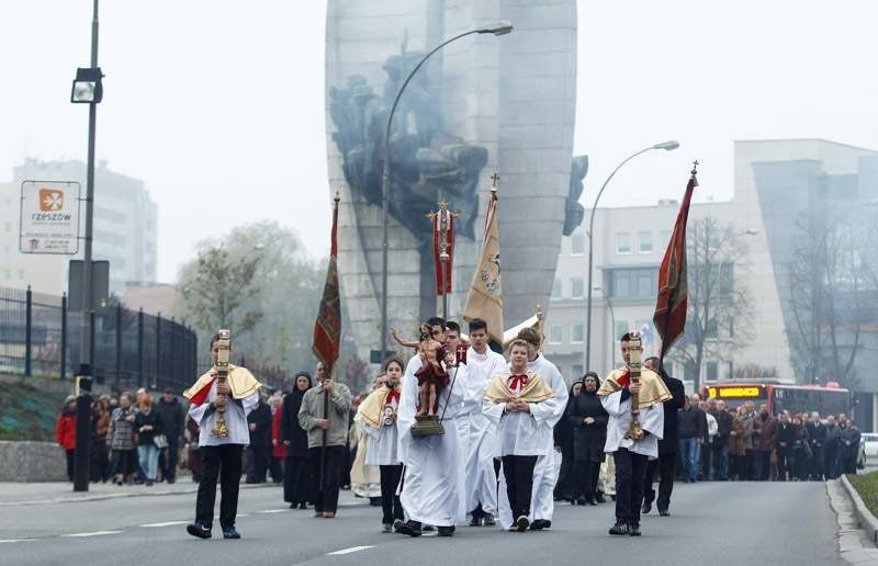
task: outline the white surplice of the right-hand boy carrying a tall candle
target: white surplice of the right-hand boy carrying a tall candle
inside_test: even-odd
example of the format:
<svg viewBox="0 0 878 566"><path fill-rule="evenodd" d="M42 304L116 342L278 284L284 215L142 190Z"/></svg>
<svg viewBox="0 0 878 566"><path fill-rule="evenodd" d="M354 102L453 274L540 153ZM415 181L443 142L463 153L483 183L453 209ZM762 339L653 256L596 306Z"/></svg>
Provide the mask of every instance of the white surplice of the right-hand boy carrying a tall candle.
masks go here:
<svg viewBox="0 0 878 566"><path fill-rule="evenodd" d="M604 452L610 454L624 448L649 456L651 460L658 457L658 439L664 434L665 426L664 406L656 403L652 407L640 409L638 417L640 427L649 434L640 440L627 439L624 434L631 426L631 397L622 400L623 390L620 389L600 397L600 404L610 416L609 422L607 422L607 443L604 444Z"/></svg>

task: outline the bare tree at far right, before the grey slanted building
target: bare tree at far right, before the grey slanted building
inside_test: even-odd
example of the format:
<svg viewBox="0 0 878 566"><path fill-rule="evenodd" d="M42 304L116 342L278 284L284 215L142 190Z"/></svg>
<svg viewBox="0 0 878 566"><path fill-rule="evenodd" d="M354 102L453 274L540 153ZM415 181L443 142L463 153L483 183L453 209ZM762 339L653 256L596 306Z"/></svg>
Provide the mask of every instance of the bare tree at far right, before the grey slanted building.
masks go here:
<svg viewBox="0 0 878 566"><path fill-rule="evenodd" d="M865 294L875 274L863 261L863 245L847 225L802 214L796 223L789 265L788 329L793 365L809 383L856 382L854 362L860 349ZM875 288L871 281L871 288Z"/></svg>

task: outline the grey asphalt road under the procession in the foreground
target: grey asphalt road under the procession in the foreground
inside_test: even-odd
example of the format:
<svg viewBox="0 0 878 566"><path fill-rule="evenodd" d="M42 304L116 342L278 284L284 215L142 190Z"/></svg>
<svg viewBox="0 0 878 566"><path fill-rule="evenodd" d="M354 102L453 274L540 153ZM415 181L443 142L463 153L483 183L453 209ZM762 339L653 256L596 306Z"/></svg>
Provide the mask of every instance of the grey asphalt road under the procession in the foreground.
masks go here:
<svg viewBox="0 0 878 566"><path fill-rule="evenodd" d="M846 564L822 483L677 485L672 516L644 517L639 539L607 534L610 502L560 505L551 531L462 527L451 539L383 534L379 508L350 493L342 493L341 505L336 519L315 519L312 511L286 508L280 488L241 490L237 527L244 539L201 541L184 530L194 512L192 494L7 503L0 507L0 564L642 566L650 556L675 566Z"/></svg>

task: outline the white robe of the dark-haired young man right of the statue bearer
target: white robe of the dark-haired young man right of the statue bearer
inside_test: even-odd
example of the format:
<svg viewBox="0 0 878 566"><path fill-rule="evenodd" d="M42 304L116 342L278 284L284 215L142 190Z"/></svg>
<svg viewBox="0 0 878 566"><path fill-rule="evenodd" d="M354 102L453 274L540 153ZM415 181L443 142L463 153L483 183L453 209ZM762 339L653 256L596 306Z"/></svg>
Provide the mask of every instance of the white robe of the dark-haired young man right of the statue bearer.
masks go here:
<svg viewBox="0 0 878 566"><path fill-rule="evenodd" d="M506 369L503 355L491 349L480 354L472 347L466 351L466 382L463 407L458 416L464 473L461 490L463 512L480 503L482 510L497 514L497 478L494 473L496 424L482 414L482 398L491 380Z"/></svg>

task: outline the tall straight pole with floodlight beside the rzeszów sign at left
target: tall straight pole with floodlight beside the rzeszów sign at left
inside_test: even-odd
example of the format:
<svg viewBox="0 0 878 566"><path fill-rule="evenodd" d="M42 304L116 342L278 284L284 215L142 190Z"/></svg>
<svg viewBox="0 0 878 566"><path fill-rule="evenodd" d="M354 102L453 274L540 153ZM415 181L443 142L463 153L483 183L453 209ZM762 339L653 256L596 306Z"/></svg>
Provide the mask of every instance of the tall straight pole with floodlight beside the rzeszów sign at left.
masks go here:
<svg viewBox="0 0 878 566"><path fill-rule="evenodd" d="M91 65L77 69L70 102L89 105L89 146L86 170L86 249L82 261L82 324L79 337L79 371L77 372L77 426L76 452L74 455L74 491L89 490L89 416L91 411L91 317L92 272L91 244L94 216L94 129L98 118L98 103L103 98L100 67L98 67L98 0L93 2L91 19ZM61 361L61 363L64 363Z"/></svg>

